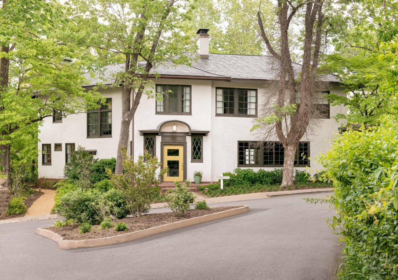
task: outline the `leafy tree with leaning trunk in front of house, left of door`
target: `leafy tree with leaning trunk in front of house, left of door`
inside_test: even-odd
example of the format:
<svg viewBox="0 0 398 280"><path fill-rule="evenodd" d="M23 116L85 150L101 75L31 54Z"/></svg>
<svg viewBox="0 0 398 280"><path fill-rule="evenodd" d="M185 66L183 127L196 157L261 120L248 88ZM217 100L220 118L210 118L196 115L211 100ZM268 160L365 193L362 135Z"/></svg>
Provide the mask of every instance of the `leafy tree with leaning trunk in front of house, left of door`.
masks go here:
<svg viewBox="0 0 398 280"><path fill-rule="evenodd" d="M143 94L148 75L155 64L167 60L188 63L183 51L193 47L187 20L192 1L175 0L76 0L74 30L76 40L90 48L96 65L121 63L111 86L121 86L123 96L121 130L115 174L122 174L123 149L127 150L129 125ZM144 63L139 63L144 61ZM110 78L110 77L107 77ZM134 96L133 102L132 96Z"/></svg>

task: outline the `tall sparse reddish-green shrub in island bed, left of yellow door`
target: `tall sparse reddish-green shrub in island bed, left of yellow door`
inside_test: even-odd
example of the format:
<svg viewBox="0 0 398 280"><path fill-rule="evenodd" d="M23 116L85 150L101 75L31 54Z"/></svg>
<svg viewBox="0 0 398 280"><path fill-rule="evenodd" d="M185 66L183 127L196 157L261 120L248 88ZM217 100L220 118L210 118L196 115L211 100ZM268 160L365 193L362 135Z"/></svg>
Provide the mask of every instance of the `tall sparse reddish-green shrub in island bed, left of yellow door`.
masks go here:
<svg viewBox="0 0 398 280"><path fill-rule="evenodd" d="M123 174L112 174L109 169L107 172L113 185L125 194L131 215L140 217L142 213L149 211L150 203L158 196L159 189L155 187L160 184L160 178L166 174L167 168L157 172L161 163L157 157L152 157L146 151L143 156L138 157L137 163L124 151L122 164Z"/></svg>

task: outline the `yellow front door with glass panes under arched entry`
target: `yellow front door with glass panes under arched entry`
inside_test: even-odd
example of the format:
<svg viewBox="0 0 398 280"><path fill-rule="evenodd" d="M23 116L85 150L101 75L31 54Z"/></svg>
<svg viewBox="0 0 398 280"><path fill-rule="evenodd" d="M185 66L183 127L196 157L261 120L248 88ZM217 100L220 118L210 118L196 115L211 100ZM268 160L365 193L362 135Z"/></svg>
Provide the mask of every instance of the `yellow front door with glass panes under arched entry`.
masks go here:
<svg viewBox="0 0 398 280"><path fill-rule="evenodd" d="M168 166L167 173L163 175L164 182L184 180L184 146L164 145L163 166Z"/></svg>

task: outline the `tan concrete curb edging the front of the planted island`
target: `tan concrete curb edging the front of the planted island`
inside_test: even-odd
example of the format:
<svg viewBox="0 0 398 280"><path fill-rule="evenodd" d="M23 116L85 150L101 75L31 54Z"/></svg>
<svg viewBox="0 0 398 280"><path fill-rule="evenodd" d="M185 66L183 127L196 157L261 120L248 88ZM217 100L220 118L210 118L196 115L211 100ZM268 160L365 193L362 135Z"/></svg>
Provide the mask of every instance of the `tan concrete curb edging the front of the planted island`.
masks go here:
<svg viewBox="0 0 398 280"><path fill-rule="evenodd" d="M159 225L157 227L151 227L149 229L142 229L140 231L134 231L130 233L125 233L121 235L111 236L111 237L103 237L97 239L86 239L86 240L63 240L62 236L59 234L50 231L48 229L38 228L36 229L35 233L37 235L41 235L43 237L47 237L55 242L58 243L61 249L75 249L75 248L82 248L82 247L98 247L98 246L105 246L105 245L114 245L119 243L124 243L127 241L132 241L135 239L139 239L142 237L147 237L150 235L155 235L158 233L163 233L166 231L172 231L174 229L180 229L182 227L189 227L191 225L197 225L199 223L206 223L209 221L214 221L217 219L222 219L226 217L230 217L233 215L238 215L242 213L249 212L249 206L245 205L239 208L234 208L230 210L225 210L217 213L212 213L208 215L203 215L200 217L195 217L191 219L186 219L183 221L178 221L174 223L169 223L166 225Z"/></svg>

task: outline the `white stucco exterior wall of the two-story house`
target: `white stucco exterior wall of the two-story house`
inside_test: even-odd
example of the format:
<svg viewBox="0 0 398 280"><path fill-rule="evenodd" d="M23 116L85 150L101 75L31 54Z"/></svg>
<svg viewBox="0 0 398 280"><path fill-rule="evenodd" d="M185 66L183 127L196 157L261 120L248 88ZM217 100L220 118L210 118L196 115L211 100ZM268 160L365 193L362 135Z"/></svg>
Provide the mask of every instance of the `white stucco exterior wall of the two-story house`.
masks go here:
<svg viewBox="0 0 398 280"><path fill-rule="evenodd" d="M166 79L158 78L154 84L178 84L191 85L191 115L164 115L155 114L155 99L142 96L134 120L134 156L135 159L143 154L144 136L139 130L156 129L164 121L183 121L192 130L210 131L209 135L203 136L203 163L191 163L191 137L187 136L187 178L193 179L193 172L203 172L202 181L214 181L215 176L222 172L233 171L238 166L238 141L256 141L257 135L250 132L253 118L250 117L224 117L215 116L215 88L257 88L258 106L264 101L263 92L266 87L253 81L217 81L217 80L189 80L189 79ZM151 89L148 86L148 89ZM86 114L77 114L66 117L62 123L53 123L52 118L44 121L39 133L39 150L41 144L51 144L52 164L42 165L41 154L39 154L39 177L61 178L65 164L65 143L75 143L84 146L88 150L97 150L98 159L116 157L117 144L120 133L121 98L122 88L102 90L102 94L112 98L112 137L111 138L87 138ZM342 88L333 86L330 90L334 94L342 94ZM330 115L346 114L345 108L335 106L330 108ZM171 124L162 127L161 131L171 131ZM178 131L186 132L187 127L179 124ZM308 170L320 170L320 166L314 158L320 152L325 153L330 148L334 133L338 132L339 123L333 118L320 120L320 127L316 135L310 135L302 141L310 141L310 168ZM132 132L130 131L130 138ZM54 144L62 143L62 151L54 151ZM129 150L129 149L128 149ZM156 156L161 158L161 136L156 136ZM253 168L258 170L259 168ZM273 169L262 167L263 169ZM304 167L298 167L304 169Z"/></svg>

